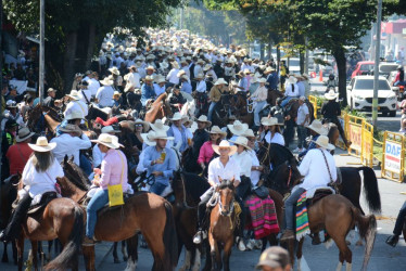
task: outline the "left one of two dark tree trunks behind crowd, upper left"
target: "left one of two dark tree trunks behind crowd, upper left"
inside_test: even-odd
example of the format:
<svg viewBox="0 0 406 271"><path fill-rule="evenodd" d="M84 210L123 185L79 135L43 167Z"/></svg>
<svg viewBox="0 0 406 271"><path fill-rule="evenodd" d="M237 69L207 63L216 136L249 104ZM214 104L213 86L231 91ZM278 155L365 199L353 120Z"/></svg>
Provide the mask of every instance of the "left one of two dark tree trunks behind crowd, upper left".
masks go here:
<svg viewBox="0 0 406 271"><path fill-rule="evenodd" d="M75 57L77 47L77 31L72 31L66 35L66 49L64 55L64 91L71 91L72 82L75 74Z"/></svg>

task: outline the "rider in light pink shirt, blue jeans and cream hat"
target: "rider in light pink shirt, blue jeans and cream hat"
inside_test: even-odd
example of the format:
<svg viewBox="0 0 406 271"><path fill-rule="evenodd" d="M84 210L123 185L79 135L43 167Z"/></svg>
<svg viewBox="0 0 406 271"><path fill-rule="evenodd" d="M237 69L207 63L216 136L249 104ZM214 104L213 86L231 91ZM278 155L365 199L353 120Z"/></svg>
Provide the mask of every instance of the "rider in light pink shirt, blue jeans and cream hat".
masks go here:
<svg viewBox="0 0 406 271"><path fill-rule="evenodd" d="M115 136L109 133L101 133L97 140L92 140L98 144L100 151L105 154L101 169L94 168L94 173L100 176L100 179L93 179L93 184L99 186L94 195L91 197L87 206L86 220L86 236L85 245L94 244L93 235L94 228L98 220L98 210L109 203L109 185L122 184L123 192L127 192L127 158L124 153L117 149L123 146L118 143Z"/></svg>

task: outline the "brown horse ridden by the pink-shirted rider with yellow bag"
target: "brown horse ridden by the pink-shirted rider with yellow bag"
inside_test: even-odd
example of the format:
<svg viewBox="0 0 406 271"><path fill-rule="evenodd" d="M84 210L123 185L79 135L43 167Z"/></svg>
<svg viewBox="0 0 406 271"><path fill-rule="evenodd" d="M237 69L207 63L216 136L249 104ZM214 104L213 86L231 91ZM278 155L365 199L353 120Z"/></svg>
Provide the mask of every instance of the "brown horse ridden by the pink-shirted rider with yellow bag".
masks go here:
<svg viewBox="0 0 406 271"><path fill-rule="evenodd" d="M62 195L83 204L88 192L86 177L72 158L62 163L65 177L59 178ZM152 193L138 193L125 205L99 211L94 236L100 241L127 240L126 270L138 260L138 232L145 237L154 257L152 270L173 270L177 266L177 235L170 204ZM114 229L114 231L112 231ZM86 270L94 270L94 246L84 247Z"/></svg>

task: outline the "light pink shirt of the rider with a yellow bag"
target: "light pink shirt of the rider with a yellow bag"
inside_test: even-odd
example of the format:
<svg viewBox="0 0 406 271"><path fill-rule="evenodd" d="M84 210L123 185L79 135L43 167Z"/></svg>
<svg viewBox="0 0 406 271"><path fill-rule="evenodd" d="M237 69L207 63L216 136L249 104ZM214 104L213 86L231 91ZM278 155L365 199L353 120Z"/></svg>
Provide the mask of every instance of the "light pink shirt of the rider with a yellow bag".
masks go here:
<svg viewBox="0 0 406 271"><path fill-rule="evenodd" d="M101 172L100 186L103 190L106 190L109 185L114 185L122 182L123 192L127 191L127 158L122 151L114 149L109 150L104 156L104 159L102 160Z"/></svg>

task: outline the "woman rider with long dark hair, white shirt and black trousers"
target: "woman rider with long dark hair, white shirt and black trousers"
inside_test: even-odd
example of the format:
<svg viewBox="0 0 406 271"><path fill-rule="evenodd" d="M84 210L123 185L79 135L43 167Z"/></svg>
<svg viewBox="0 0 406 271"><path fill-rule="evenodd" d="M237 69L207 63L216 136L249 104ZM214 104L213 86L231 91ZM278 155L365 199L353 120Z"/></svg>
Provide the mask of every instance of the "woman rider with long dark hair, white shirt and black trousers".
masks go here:
<svg viewBox="0 0 406 271"><path fill-rule="evenodd" d="M15 208L10 223L0 234L3 242L18 237L21 224L26 218L33 199L40 199L46 192L56 192L55 183L58 177L63 177L63 170L52 154L56 143L48 143L47 138L39 137L36 144L28 144L34 153L24 167L22 180L25 188L18 191L20 202Z"/></svg>

